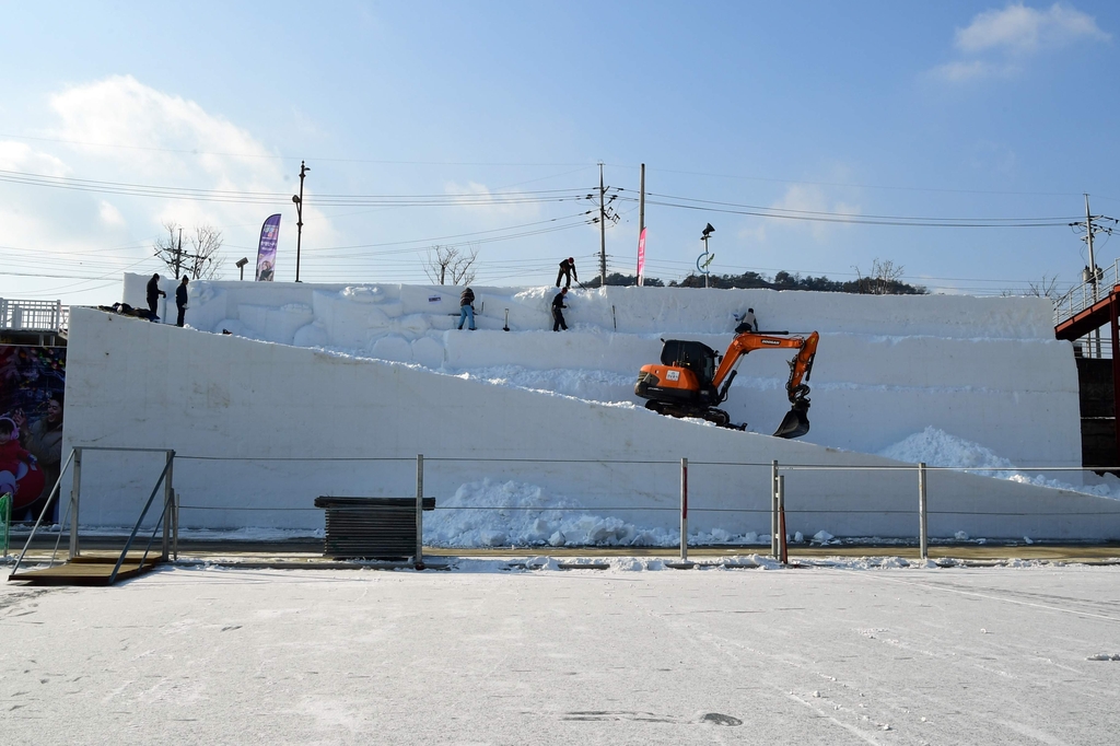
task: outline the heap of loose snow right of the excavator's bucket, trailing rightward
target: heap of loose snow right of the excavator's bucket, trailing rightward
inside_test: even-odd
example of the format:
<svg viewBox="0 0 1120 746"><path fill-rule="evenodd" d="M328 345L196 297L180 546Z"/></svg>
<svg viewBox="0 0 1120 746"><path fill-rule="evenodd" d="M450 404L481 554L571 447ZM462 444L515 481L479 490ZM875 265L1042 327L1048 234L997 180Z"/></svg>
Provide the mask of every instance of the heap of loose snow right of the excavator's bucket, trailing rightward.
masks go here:
<svg viewBox="0 0 1120 746"><path fill-rule="evenodd" d="M879 456L912 464L924 461L927 466L968 469L972 474L996 477L997 479L1120 500L1120 479L1111 474L1096 476L1092 473L1085 473L1085 484L1071 484L1062 478L1047 478L1044 473L1028 474L1027 472L1033 469L1019 469L1010 460L1002 458L991 449L949 435L934 427L927 427L921 432L915 432L908 438L884 448L879 451ZM1075 470L1060 472L1058 474L1080 476L1083 473ZM958 535L958 539L960 538Z"/></svg>

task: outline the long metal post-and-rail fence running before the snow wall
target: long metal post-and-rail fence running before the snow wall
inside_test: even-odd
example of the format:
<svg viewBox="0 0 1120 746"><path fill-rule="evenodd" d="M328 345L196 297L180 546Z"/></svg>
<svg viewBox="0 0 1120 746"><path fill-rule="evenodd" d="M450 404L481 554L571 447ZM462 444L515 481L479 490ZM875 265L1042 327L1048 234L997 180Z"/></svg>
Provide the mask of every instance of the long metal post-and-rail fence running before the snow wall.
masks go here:
<svg viewBox="0 0 1120 746"><path fill-rule="evenodd" d="M68 517L71 526L78 524L77 515L80 507L80 496L84 492L83 484L88 479L83 477L81 454L83 450L120 450L124 454L142 454L147 449L114 449L114 448L77 448L74 469L74 491L68 505ZM436 515L447 515L457 512L460 515L478 514L493 516L495 513L502 516L511 528L507 535L500 543L477 544L479 547L501 547L511 549L525 549L529 551L544 550L552 547L581 548L587 547L661 547L674 549L672 542L678 538L674 534L679 525L679 550L682 561L688 561L690 547L700 545L728 545L728 547L755 547L759 550L772 553L775 558L785 561L787 557L788 534L794 533L787 528L787 520L803 529L812 528L831 529L837 534L846 539L872 538L876 535L890 539L893 541L911 542L920 547L923 559L928 557L928 545L931 542L930 519L940 521L941 534L935 535L934 542L951 542L953 531L945 533L945 528L956 523L960 517L970 517L973 521L1004 521L1010 516L1028 516L1037 520L1039 524L1048 521L1067 520L1071 515L1077 520L1100 522L1113 521L1120 526L1120 504L1114 509L1111 502L1102 504L1100 507L1092 505L1075 505L1071 502L1062 504L1057 502L1048 506L1025 507L1008 502L989 498L984 494L982 486L962 487L959 482L939 484L935 475L952 472L992 473L1000 469L991 467L931 467L925 464L898 464L885 466L853 466L836 464L780 464L776 460L766 463L725 463L725 461L690 461L687 458L676 460L609 460L609 459L534 459L534 458L508 458L508 459L475 459L475 458L433 458L418 455L416 458L239 458L239 457L199 457L183 456L174 451L152 450L152 456L160 463L166 461L165 473L148 496L144 513L157 502L157 494L162 494L162 509L156 506L155 519L149 519L146 523L144 515L136 521L132 529L129 544L141 530L141 525L148 526L150 538L148 545L151 547L162 529L162 554L177 554L180 520L186 526L216 525L222 520L228 521L230 515L237 516L234 520L241 526L276 525L282 521L277 516L290 514L291 512L309 513L311 511L321 513L321 509L314 506L314 497L308 496L306 505L289 503L284 506L269 504L246 504L227 495L216 496L209 493L208 497L192 495L189 487L184 495L179 494L179 485L189 484L193 481L197 484L200 475L205 475L208 481L222 482L232 477L235 483L244 482L253 474L264 472L276 472L277 469L290 468L293 472L302 473L308 477L301 486L302 491L317 488L324 475L329 470L338 470L340 463L345 463L348 473L356 473L358 469L366 469L371 484L380 485L371 492L384 494L392 485L393 495L396 497L412 497L414 495L416 521L417 521L417 545L412 560L418 567L423 563L423 521L424 510L422 497L424 492L429 498L431 493L436 493ZM73 458L73 456L72 456ZM176 461L176 486L171 485L171 461ZM284 465L284 463L288 463ZM192 467L190 465L195 466ZM146 467L152 469L158 464ZM318 470L316 469L318 467ZM519 500L513 495L510 500L502 502L506 495L501 489L494 491L495 498L483 501L486 504L472 504L469 501L455 502L449 500L449 485L467 484L479 475L491 475L495 483L501 479L507 482L520 482L522 485L533 486L534 484L547 483L557 475L562 475L572 469L599 469L605 476L614 470L615 476L625 475L625 469L641 468L646 476L652 472L657 481L663 484L679 484L676 494L672 489L661 489L657 495L648 495L644 500L634 500L634 491L627 486L619 487L619 496L610 502L609 489L600 491L597 501L590 504L582 504L576 500L557 500L554 495L543 495L536 503L533 501ZM195 470L196 469L196 470ZM221 469L221 473L215 473ZM195 470L194 474L190 474ZM1002 469L1008 470L1008 469ZM1015 474L1045 474L1063 472L1086 472L1082 467L1018 467ZM824 472L829 473L824 492L821 492L820 479L796 477L799 473ZM65 473L65 469L64 469ZM862 473L857 476L857 474ZM868 475L872 476L868 476ZM545 476L547 475L547 476ZM166 477L166 478L165 478ZM426 477L429 488L426 489ZM787 477L791 482L787 484ZM933 484L931 486L931 477ZM846 478L859 479L858 489L852 488L852 484L843 485ZM62 476L59 477L59 484ZM353 483L353 482L352 482ZM554 479L552 482L556 483ZM741 487L743 498L738 502L729 502L726 498L727 491L721 494L719 502L711 502L709 491L712 485L734 484L736 488ZM432 484L437 486L431 488ZM99 485L90 484L90 487ZM383 488L384 487L384 488ZM809 493L805 492L806 487ZM58 485L55 487L56 493ZM844 498L832 497L836 495L847 495ZM329 491L324 487L324 491ZM352 492L352 491L351 491ZM559 492L559 491L557 491ZM411 495L409 493L412 493ZM335 493L344 496L343 493ZM961 495L967 496L961 500ZM355 495L347 495L355 496ZM139 505L138 505L139 507ZM430 506L429 506L430 509ZM1048 512L1047 512L1048 511ZM528 523L540 520L545 524L559 525L560 520L556 516L579 513L591 519L600 520L600 523L609 523L618 516L628 516L635 523L641 522L641 516L651 516L645 528L638 525L638 534L634 533L634 525L629 525L629 534L620 538L620 534L607 534L605 540L596 543L594 540L586 542L553 543L544 534L531 535L532 532L522 531L521 528ZM181 514L181 519L180 519ZM701 521L696 517L703 516ZM243 519L241 516L244 516ZM268 516L268 517L264 517ZM768 524L766 517L769 517ZM909 516L909 517L907 517ZM575 516L580 520L580 515ZM263 520L262 520L263 519ZM41 516L40 516L41 520ZM302 525L309 522L306 519L297 521ZM831 525L830 525L831 522ZM67 523L63 517L60 524ZM595 521L590 521L595 523ZM702 523L707 526L707 534L690 530ZM841 528L840 524L843 524ZM995 524L995 523L993 523ZM459 524L451 524L458 530ZM613 525L625 525L615 522ZM753 530L729 533L712 526L749 526L758 528ZM765 526L769 532L766 533ZM902 528L902 531L894 533L877 534L874 530L866 530L869 526L889 525ZM906 526L913 526L906 530ZM651 534L642 534L641 531L656 526L651 530ZM62 528L62 526L59 526ZM861 532L861 529L865 531ZM567 530L567 529L566 529ZM521 531L521 533L517 533ZM757 534L747 538L749 534ZM661 538L661 543L653 543L648 535ZM715 539L713 539L715 537ZM668 539L666 539L668 538ZM960 539L959 537L956 537ZM1046 538L1046 537L1039 537ZM592 538L594 539L594 538ZM601 537L600 537L601 539ZM834 543L834 538L829 535L816 543ZM811 540L810 540L811 541ZM808 542L806 542L808 543ZM470 545L457 543L442 543L437 540L429 545L458 547L469 549ZM26 548L25 548L26 551ZM76 530L72 530L69 556L78 553L78 537ZM125 547L125 553L128 547Z"/></svg>

